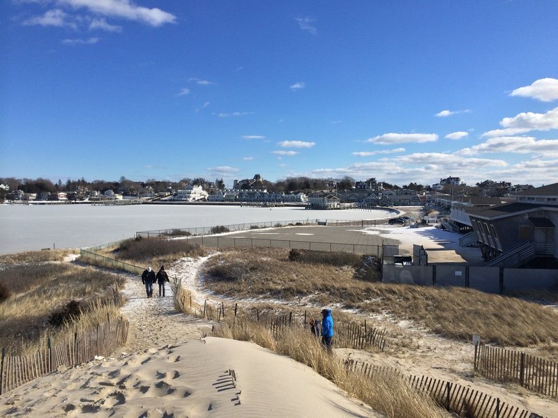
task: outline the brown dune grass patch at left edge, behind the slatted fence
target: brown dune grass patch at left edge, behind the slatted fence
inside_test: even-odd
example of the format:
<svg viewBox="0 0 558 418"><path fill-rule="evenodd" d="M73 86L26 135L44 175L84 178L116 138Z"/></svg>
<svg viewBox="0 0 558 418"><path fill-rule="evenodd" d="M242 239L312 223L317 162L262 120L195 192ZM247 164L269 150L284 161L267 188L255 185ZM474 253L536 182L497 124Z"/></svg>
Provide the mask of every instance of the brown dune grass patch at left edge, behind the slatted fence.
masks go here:
<svg viewBox="0 0 558 418"><path fill-rule="evenodd" d="M0 302L0 346L29 353L68 328L95 323L108 310L116 316L110 286L121 279L68 263L26 263L0 270L10 295Z"/></svg>

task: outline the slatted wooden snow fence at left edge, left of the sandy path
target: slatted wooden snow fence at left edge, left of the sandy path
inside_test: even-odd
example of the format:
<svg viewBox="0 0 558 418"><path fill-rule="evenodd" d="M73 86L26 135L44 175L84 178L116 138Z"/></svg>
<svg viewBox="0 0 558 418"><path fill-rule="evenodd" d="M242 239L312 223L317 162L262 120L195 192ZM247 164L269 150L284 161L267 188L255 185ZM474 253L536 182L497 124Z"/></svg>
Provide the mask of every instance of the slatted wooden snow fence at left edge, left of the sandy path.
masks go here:
<svg viewBox="0 0 558 418"><path fill-rule="evenodd" d="M110 355L128 339L128 321L108 319L105 323L73 335L66 341L52 345L30 355L6 355L2 348L0 363L0 394L4 394L33 379L56 371L60 366L75 366L89 362L96 355Z"/></svg>

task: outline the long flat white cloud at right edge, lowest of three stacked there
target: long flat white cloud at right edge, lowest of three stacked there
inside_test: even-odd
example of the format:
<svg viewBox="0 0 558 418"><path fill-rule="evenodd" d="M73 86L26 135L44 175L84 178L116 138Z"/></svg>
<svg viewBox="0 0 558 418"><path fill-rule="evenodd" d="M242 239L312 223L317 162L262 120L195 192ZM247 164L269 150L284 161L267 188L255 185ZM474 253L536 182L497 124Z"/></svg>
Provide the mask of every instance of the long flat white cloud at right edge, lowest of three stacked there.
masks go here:
<svg viewBox="0 0 558 418"><path fill-rule="evenodd" d="M558 139L536 140L534 137L496 137L490 138L482 144L458 151L461 155L476 155L481 153L558 153Z"/></svg>

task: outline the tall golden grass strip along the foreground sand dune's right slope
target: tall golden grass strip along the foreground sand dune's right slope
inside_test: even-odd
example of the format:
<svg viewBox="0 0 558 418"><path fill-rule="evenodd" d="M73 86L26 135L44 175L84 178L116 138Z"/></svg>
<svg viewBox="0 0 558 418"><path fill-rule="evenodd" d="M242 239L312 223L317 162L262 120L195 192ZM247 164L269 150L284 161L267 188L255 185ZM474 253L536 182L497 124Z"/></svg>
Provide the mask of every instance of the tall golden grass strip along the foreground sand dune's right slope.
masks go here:
<svg viewBox="0 0 558 418"><path fill-rule="evenodd" d="M324 350L307 330L287 327L275 338L261 322L247 318L229 319L218 326L215 336L240 341L252 341L296 362L306 364L324 378L331 380L349 396L367 403L386 417L423 418L448 417L442 408L427 396L420 396L398 376L377 376L371 380L360 373L347 372L343 362Z"/></svg>

